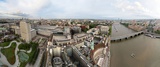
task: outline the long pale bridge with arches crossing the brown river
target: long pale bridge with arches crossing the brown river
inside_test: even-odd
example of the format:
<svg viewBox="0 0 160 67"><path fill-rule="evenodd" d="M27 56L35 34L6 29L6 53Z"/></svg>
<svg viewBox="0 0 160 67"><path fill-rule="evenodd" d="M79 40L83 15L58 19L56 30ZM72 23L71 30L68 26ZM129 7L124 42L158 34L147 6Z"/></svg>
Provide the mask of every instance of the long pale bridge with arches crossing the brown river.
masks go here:
<svg viewBox="0 0 160 67"><path fill-rule="evenodd" d="M111 37L111 42L127 40L129 38L136 37L136 36L141 35L143 33L144 33L143 31L140 31L140 32L132 33L132 34L123 35L123 36Z"/></svg>

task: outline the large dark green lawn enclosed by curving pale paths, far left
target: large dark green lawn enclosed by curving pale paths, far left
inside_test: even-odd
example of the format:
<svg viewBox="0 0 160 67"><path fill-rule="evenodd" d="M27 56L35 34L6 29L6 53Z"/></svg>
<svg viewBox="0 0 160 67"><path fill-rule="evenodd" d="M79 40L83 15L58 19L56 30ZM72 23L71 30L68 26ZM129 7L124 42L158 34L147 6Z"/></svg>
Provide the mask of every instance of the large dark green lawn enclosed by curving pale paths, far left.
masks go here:
<svg viewBox="0 0 160 67"><path fill-rule="evenodd" d="M8 62L10 64L15 63L15 48L16 48L16 43L12 43L12 45L9 48L2 48L1 52L6 56Z"/></svg>

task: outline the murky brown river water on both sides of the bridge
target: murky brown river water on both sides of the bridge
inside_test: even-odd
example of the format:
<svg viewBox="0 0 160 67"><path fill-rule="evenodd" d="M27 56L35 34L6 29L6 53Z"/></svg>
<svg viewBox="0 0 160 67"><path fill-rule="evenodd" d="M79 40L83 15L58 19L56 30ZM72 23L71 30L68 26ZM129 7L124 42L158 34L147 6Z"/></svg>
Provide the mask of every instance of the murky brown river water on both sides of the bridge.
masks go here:
<svg viewBox="0 0 160 67"><path fill-rule="evenodd" d="M115 23L111 37L134 33ZM135 57L131 57L134 53ZM111 67L160 67L160 39L144 35L111 43Z"/></svg>

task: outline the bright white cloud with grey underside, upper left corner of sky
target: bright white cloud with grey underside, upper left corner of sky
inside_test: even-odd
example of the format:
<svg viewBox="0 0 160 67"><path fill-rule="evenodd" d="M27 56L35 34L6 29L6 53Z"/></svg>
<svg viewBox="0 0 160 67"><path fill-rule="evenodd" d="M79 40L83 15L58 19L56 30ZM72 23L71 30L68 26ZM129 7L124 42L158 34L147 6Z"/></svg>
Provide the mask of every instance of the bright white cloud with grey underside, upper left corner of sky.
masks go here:
<svg viewBox="0 0 160 67"><path fill-rule="evenodd" d="M26 14L35 15L47 0L5 0L0 1L0 13L26 17ZM15 14L16 13L16 14ZM10 15L9 15L10 16Z"/></svg>

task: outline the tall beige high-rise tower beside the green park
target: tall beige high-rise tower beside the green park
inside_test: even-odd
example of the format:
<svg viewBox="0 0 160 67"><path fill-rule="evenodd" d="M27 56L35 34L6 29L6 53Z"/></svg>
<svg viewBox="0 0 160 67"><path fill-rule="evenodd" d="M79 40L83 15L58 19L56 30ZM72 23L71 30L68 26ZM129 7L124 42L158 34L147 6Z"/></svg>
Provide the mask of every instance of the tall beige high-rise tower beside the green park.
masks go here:
<svg viewBox="0 0 160 67"><path fill-rule="evenodd" d="M31 41L31 25L25 21L20 22L20 33L21 38L26 42Z"/></svg>

